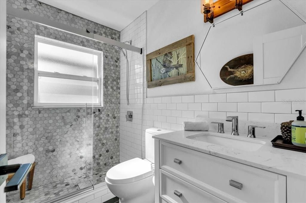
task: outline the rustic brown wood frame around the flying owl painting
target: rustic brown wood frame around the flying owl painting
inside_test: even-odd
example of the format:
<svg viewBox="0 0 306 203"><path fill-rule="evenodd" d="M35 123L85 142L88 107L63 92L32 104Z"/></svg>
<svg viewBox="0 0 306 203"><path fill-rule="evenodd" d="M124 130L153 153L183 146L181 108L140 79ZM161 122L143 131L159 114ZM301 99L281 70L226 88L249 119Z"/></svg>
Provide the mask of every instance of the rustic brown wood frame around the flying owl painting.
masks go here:
<svg viewBox="0 0 306 203"><path fill-rule="evenodd" d="M177 48L186 46L187 73L175 77L169 77L160 80L151 80L151 59L171 52ZM194 35L176 41L170 45L160 48L146 55L147 66L147 88L159 87L176 83L185 83L195 81L195 62L194 62Z"/></svg>

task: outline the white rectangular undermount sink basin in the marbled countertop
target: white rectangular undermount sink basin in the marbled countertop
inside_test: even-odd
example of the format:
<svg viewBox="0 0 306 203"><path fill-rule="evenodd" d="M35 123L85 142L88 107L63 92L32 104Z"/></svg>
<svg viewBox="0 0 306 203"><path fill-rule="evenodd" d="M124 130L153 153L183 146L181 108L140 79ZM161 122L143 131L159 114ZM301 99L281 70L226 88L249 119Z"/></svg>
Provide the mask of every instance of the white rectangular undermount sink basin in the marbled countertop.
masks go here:
<svg viewBox="0 0 306 203"><path fill-rule="evenodd" d="M257 151L264 144L266 144L265 141L255 140L256 138L254 139L248 137L241 137L241 135L235 136L230 134L220 134L212 132L196 134L188 136L187 138L211 144L218 144L221 146L235 148L243 151Z"/></svg>

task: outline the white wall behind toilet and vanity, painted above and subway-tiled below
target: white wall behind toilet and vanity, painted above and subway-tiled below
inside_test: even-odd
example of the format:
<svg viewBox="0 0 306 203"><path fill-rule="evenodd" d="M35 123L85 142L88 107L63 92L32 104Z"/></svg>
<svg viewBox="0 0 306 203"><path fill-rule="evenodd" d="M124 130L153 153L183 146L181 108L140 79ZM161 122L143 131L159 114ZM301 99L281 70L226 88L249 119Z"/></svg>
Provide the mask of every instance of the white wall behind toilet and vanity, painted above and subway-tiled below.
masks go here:
<svg viewBox="0 0 306 203"><path fill-rule="evenodd" d="M254 2L258 3L259 1ZM299 9L302 15L306 15L305 11L303 11L306 1L288 2L294 8ZM244 6L244 8L246 7ZM231 15L233 13L226 14L218 20ZM143 33L145 26L138 24L140 20L141 18L137 18L131 25L121 31L121 41L128 40L134 36L137 38L140 34L145 37ZM143 26L143 29L137 28L141 26ZM208 23L203 23L203 16L200 13L200 0L159 1L147 11L147 44L145 42L143 44L143 46L147 45L147 51L144 54L155 51L191 34L195 35L195 54L197 54L208 26ZM302 55L305 57L305 52ZM280 133L279 123L296 119L295 109L304 109L304 113L306 112L306 104L305 102L303 103L303 100L306 100L306 60L302 57L298 59L293 69L280 85L211 90L199 69L196 68L195 82L151 89L144 88L144 97L146 97L147 91L148 98L144 99L142 111L141 101L137 100L141 95L138 93L142 91L136 87L130 88L130 97L135 99L132 101L134 104L126 105L124 62L125 59L121 55L121 162L141 157L141 112L143 113L143 136L144 130L150 127L182 130L183 121L195 121L197 116L208 117L210 121L224 122L225 131L230 132L231 123L226 122L225 118L230 115L238 115L241 134L247 133L248 125L259 125L266 126L267 128L258 129L257 135L268 137L275 137ZM131 75L134 74L131 73ZM139 77L140 74L135 78L139 79L138 81L140 82ZM301 81L296 82L297 78ZM146 87L145 71L143 80L144 87ZM301 102L285 104L283 101L287 100L301 100ZM132 123L125 122L127 110L133 110L134 115L136 112L135 117L137 119ZM210 125L210 128L211 130L217 130L216 125Z"/></svg>

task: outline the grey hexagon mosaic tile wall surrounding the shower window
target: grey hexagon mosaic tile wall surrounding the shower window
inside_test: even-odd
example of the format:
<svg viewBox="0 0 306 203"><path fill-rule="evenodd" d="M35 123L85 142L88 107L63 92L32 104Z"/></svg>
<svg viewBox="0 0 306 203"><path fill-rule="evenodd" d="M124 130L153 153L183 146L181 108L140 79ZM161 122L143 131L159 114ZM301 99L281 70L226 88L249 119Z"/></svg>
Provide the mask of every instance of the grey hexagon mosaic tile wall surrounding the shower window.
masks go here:
<svg viewBox="0 0 306 203"><path fill-rule="evenodd" d="M120 40L120 32L34 0L12 6L79 29ZM34 35L103 52L103 107L35 109ZM31 153L33 187L119 162L120 53L112 46L7 16L7 123L9 158ZM85 116L88 122L85 123Z"/></svg>

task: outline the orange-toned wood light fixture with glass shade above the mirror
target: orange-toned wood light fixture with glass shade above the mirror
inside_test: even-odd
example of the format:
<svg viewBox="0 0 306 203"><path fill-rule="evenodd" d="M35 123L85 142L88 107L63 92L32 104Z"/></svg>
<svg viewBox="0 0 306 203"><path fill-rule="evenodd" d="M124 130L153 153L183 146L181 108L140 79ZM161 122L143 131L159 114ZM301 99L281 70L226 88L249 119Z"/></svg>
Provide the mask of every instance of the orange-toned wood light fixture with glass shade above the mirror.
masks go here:
<svg viewBox="0 0 306 203"><path fill-rule="evenodd" d="M214 18L222 16L234 9L242 11L242 5L253 0L201 0L201 13L204 14L204 23L214 23Z"/></svg>

